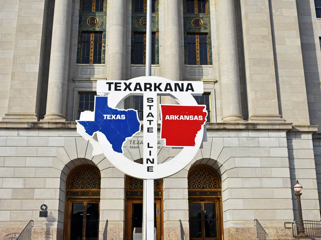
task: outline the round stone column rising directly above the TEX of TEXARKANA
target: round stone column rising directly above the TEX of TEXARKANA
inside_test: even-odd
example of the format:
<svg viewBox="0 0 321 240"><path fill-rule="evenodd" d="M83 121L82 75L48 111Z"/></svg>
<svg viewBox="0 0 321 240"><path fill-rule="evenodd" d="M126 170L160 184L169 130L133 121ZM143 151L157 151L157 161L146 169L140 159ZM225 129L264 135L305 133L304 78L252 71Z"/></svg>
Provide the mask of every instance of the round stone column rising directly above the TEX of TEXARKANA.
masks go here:
<svg viewBox="0 0 321 240"><path fill-rule="evenodd" d="M109 9L107 80L125 80L127 1L111 0Z"/></svg>

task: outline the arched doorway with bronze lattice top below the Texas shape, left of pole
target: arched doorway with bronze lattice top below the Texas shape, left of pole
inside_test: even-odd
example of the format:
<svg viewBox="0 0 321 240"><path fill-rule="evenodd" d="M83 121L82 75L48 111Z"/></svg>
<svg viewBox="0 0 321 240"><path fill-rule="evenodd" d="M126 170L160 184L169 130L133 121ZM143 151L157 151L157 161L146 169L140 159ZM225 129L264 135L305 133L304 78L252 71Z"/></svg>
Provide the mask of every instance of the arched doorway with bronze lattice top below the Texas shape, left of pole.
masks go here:
<svg viewBox="0 0 321 240"><path fill-rule="evenodd" d="M92 165L74 168L67 177L65 240L98 240L100 171Z"/></svg>

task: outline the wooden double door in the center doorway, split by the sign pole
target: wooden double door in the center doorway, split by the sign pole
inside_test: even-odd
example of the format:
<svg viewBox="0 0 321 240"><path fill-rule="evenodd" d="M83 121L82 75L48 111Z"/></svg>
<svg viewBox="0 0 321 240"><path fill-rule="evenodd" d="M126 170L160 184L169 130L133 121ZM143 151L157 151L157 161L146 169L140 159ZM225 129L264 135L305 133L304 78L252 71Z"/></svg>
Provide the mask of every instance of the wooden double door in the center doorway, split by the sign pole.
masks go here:
<svg viewBox="0 0 321 240"><path fill-rule="evenodd" d="M156 209L160 214L156 214ZM158 211L157 211L158 212ZM154 227L156 228L156 239L162 239L162 202L160 199L154 200ZM143 222L143 200L128 199L126 201L126 240L133 240L134 228L141 228Z"/></svg>

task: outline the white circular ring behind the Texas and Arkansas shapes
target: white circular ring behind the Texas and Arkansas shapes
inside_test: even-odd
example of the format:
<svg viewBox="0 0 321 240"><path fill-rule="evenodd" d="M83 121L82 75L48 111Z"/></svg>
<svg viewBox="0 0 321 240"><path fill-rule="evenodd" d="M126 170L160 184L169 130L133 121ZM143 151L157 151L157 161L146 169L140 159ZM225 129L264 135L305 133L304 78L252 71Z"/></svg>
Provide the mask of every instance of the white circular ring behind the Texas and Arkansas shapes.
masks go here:
<svg viewBox="0 0 321 240"><path fill-rule="evenodd" d="M136 77L130 79L132 82L148 82L148 83L173 83L175 81L156 76L145 76L145 77ZM97 89L97 92L99 90ZM117 104L125 99L128 95L133 95L129 92L110 92L108 94L108 106L110 108L116 108ZM163 94L165 95L165 94ZM168 94L166 94L168 95ZM193 96L190 93L186 92L171 92L171 95L181 104L185 106L197 106L197 103ZM191 160L196 155L199 150L202 140L203 140L203 131L204 125L202 125L201 130L197 132L195 137L195 146L184 147L177 156L170 159L169 161L162 164L154 164L153 172L146 172L146 166L144 164L136 163L121 153L117 153L112 149L111 144L108 142L106 136L102 132L97 132L98 142L100 148L102 149L104 155L111 164L113 164L117 169L125 174L139 178L139 179L160 179L171 176L191 162Z"/></svg>

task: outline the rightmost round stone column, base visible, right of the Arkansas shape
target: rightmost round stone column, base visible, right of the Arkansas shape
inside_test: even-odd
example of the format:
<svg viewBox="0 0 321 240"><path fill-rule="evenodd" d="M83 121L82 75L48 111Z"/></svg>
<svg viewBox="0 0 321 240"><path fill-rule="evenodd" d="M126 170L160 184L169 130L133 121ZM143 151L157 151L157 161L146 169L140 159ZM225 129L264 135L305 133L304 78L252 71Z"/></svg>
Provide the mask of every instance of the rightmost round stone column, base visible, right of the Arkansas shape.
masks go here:
<svg viewBox="0 0 321 240"><path fill-rule="evenodd" d="M243 120L234 1L218 2L223 121Z"/></svg>

